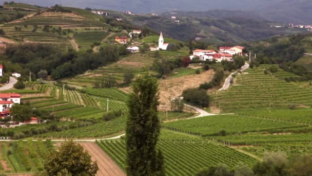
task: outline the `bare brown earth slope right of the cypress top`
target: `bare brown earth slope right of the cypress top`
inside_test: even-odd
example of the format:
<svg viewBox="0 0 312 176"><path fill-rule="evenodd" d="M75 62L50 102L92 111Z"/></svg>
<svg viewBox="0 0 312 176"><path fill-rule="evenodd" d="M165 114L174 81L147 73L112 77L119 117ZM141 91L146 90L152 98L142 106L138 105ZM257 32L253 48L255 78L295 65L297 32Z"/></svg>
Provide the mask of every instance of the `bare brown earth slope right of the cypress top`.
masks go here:
<svg viewBox="0 0 312 176"><path fill-rule="evenodd" d="M199 87L204 82L209 82L214 73L212 70L202 72L199 75L188 75L159 81L160 106L159 110L170 110L170 99L179 97L182 92L189 88Z"/></svg>

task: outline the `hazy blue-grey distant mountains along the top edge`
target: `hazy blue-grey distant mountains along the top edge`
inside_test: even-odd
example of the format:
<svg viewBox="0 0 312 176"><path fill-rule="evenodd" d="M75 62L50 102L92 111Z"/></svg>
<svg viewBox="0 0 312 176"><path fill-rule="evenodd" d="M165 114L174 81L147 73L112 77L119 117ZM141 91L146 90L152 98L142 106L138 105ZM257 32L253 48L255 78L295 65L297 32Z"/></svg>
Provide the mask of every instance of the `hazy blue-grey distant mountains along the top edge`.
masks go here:
<svg viewBox="0 0 312 176"><path fill-rule="evenodd" d="M4 1L0 1L3 3ZM151 12L168 12L168 11L208 11L212 9L222 10L242 10L249 11L260 15L270 21L279 21L285 23L311 24L312 1L310 0L17 0L15 2L23 2L28 4L36 4L41 6L51 6L54 4L62 4L71 7L90 7L97 9L109 9L125 11L130 10L135 13L151 13Z"/></svg>

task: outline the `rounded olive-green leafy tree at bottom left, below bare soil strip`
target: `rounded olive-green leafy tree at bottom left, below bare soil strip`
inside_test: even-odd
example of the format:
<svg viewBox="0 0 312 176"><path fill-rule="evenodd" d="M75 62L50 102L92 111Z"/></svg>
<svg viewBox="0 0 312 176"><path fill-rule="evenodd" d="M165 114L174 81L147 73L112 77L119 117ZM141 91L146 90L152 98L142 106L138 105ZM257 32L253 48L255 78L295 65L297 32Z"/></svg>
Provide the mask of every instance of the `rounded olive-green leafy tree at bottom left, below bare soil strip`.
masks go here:
<svg viewBox="0 0 312 176"><path fill-rule="evenodd" d="M44 169L42 175L95 175L99 167L81 145L69 141L49 153Z"/></svg>

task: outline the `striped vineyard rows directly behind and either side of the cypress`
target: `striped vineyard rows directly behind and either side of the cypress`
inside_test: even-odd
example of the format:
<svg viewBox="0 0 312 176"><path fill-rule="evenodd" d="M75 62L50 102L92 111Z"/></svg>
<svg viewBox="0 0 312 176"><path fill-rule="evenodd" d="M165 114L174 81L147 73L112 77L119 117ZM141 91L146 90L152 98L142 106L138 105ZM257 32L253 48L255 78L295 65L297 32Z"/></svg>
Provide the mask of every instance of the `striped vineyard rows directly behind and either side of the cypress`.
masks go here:
<svg viewBox="0 0 312 176"><path fill-rule="evenodd" d="M103 140L97 144L123 169L126 168L124 140ZM239 162L253 165L256 160L229 147L214 145L206 140L160 141L166 175L194 175L202 168L219 163L235 167Z"/></svg>

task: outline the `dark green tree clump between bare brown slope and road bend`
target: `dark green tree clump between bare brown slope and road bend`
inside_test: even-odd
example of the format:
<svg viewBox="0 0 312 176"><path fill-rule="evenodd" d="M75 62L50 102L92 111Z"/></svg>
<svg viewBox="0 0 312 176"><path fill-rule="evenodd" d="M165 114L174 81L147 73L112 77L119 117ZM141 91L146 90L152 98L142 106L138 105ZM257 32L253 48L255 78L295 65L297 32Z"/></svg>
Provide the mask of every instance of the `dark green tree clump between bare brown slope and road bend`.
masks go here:
<svg viewBox="0 0 312 176"><path fill-rule="evenodd" d="M182 93L186 102L198 105L200 107L208 107L209 106L209 96L207 95L207 91L199 90L199 89L187 89Z"/></svg>

